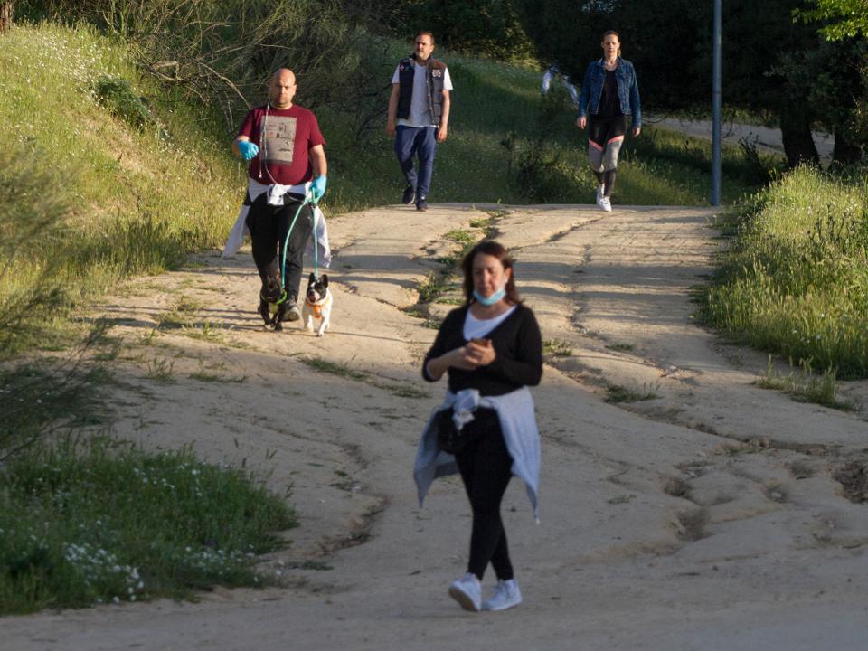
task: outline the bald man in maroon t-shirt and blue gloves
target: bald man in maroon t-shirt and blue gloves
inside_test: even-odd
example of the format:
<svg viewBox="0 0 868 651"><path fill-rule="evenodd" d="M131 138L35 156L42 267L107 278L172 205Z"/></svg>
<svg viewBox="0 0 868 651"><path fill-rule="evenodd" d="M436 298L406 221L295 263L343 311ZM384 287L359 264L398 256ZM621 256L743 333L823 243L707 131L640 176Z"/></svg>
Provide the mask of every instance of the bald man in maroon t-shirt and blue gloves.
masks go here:
<svg viewBox="0 0 868 651"><path fill-rule="evenodd" d="M262 280L259 314L275 330L281 329L284 318L301 317L297 298L313 222L312 206L302 204L308 192L314 201L323 196L327 172L325 138L316 116L293 104L296 90L293 71L276 71L269 83L269 102L250 110L232 142L233 150L250 161L244 203L249 206L246 223L253 261ZM276 307L274 316L269 306Z"/></svg>

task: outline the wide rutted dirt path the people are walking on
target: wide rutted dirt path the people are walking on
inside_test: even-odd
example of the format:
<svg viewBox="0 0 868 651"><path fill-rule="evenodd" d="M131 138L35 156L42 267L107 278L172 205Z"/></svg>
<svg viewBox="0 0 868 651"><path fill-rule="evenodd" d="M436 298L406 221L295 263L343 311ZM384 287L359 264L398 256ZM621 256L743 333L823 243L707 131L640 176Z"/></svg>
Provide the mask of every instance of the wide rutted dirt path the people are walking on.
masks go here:
<svg viewBox="0 0 868 651"><path fill-rule="evenodd" d="M128 344L118 435L291 484L302 524L263 563L283 587L6 618L0 648L862 647L868 518L833 475L866 454L868 385L846 388L854 413L799 404L753 386L764 355L693 324L690 288L720 246L711 221L584 206L344 215L329 224L323 339L259 329L249 253L138 282L104 306ZM420 380L424 317L449 306L413 306L457 248L444 235L486 226L514 249L552 353L534 391L542 524L518 481L504 505L525 601L470 614L446 595L466 499L439 480L420 509L410 473L444 390Z"/></svg>

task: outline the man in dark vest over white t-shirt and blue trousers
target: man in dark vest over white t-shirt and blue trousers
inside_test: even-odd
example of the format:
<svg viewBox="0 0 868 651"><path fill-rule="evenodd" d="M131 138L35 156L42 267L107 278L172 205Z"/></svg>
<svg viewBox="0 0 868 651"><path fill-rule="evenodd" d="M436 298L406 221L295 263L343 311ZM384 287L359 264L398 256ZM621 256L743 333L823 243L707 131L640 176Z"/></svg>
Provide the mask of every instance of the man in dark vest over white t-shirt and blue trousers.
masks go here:
<svg viewBox="0 0 868 651"><path fill-rule="evenodd" d="M416 52L401 59L392 75L386 123L386 133L395 137L395 154L407 179L401 203L416 203L416 210L420 211L428 210L434 151L437 143L448 136L452 90L446 64L432 57L431 52L434 36L420 32L416 36ZM413 167L414 155L419 156L418 173Z"/></svg>

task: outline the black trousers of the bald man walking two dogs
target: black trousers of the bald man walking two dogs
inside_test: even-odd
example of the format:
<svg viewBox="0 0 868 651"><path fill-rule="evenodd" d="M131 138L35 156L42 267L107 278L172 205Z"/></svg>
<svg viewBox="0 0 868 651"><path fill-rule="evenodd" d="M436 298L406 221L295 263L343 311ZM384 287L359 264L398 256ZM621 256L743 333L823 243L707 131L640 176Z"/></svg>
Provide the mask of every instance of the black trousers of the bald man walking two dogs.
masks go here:
<svg viewBox="0 0 868 651"><path fill-rule="evenodd" d="M301 202L289 202L288 205L273 206L268 203L267 192L261 193L250 205L247 213L247 228L250 229L253 261L262 278L262 287L268 286L269 278L280 279L279 260L283 259L283 244L287 239L287 231L296 216ZM301 286L301 272L304 268L305 247L312 230L313 213L310 205L306 205L298 215L296 225L292 228L287 246L287 265L284 269L285 287L290 302L298 297Z"/></svg>

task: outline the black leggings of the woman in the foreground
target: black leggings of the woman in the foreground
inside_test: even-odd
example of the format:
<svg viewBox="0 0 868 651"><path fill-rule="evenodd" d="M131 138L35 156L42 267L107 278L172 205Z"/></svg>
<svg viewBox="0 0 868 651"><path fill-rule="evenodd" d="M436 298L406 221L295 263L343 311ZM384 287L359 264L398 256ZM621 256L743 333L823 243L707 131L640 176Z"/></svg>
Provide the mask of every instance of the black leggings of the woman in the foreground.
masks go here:
<svg viewBox="0 0 868 651"><path fill-rule="evenodd" d="M473 510L467 571L482 580L490 561L498 579L510 580L513 564L500 519L500 502L512 476L513 458L506 449L495 410L476 410L475 419L465 427L470 428L467 434L471 440L455 460Z"/></svg>

